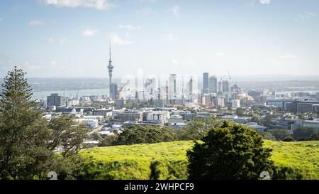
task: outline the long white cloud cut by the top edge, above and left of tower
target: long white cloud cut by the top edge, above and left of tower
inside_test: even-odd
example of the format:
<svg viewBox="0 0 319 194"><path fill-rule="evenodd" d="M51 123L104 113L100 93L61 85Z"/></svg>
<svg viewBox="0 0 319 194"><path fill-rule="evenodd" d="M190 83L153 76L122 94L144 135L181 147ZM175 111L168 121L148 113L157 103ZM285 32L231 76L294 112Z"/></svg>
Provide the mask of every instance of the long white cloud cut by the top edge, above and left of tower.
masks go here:
<svg viewBox="0 0 319 194"><path fill-rule="evenodd" d="M97 10L111 9L115 5L108 3L107 0L43 0L46 5L57 7L85 7Z"/></svg>

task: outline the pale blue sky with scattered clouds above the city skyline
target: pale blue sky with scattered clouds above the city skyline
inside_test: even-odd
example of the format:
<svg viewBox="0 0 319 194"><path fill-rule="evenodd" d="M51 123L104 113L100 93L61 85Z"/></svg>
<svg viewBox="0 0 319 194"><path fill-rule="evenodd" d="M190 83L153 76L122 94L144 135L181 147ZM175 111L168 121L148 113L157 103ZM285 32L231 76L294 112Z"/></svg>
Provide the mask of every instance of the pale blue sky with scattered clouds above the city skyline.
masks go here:
<svg viewBox="0 0 319 194"><path fill-rule="evenodd" d="M0 77L319 75L318 0L1 0Z"/></svg>

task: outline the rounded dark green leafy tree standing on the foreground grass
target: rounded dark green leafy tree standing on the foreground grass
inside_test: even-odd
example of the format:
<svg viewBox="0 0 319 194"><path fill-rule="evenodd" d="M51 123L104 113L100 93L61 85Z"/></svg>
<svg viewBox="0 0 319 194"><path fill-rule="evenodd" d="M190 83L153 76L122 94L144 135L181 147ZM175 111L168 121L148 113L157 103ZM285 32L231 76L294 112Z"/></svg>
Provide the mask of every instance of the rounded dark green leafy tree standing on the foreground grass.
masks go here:
<svg viewBox="0 0 319 194"><path fill-rule="evenodd" d="M225 121L202 141L187 151L190 179L258 179L262 171L272 172L272 150L254 129Z"/></svg>

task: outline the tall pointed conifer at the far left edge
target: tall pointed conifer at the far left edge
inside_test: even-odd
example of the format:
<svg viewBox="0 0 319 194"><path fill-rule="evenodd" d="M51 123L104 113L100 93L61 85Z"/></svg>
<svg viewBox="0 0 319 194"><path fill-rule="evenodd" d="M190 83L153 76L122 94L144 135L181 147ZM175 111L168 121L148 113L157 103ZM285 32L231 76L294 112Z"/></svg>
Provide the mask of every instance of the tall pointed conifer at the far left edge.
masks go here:
<svg viewBox="0 0 319 194"><path fill-rule="evenodd" d="M0 99L0 179L33 179L54 157L46 149L49 129L30 101L32 90L21 69L8 72Z"/></svg>

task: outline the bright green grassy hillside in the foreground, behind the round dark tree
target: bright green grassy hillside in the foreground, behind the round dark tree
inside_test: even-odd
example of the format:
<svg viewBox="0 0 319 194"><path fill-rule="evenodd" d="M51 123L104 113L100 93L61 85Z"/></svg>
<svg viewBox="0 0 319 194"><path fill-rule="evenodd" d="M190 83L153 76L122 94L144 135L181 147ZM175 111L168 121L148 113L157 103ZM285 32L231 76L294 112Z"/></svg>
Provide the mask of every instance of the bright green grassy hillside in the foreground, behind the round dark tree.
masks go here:
<svg viewBox="0 0 319 194"><path fill-rule="evenodd" d="M80 153L86 160L82 178L186 179L186 150L193 145L174 141L86 149ZM266 141L265 146L274 150L276 166L289 169L286 178L319 179L319 141Z"/></svg>

